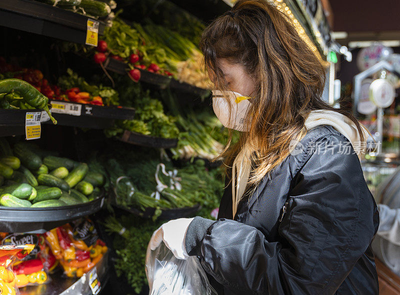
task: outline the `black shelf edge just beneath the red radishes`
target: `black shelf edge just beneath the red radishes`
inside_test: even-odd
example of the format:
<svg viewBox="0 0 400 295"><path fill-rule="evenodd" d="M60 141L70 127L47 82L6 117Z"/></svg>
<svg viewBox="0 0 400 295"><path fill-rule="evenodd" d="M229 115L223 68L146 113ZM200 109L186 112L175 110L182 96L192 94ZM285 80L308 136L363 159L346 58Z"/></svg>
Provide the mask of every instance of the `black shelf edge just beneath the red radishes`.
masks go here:
<svg viewBox="0 0 400 295"><path fill-rule="evenodd" d="M104 62L104 67L110 71L126 74L129 69L128 65L120 60L116 60L114 58L107 58ZM165 89L166 87L170 87L171 89L178 90L180 92L193 93L196 95L206 95L210 91L207 89L199 88L188 83L179 82L174 78L163 76L160 74L156 74L153 72L149 72L148 70L139 69L140 70L140 82L148 83L151 85L158 86L160 89Z"/></svg>

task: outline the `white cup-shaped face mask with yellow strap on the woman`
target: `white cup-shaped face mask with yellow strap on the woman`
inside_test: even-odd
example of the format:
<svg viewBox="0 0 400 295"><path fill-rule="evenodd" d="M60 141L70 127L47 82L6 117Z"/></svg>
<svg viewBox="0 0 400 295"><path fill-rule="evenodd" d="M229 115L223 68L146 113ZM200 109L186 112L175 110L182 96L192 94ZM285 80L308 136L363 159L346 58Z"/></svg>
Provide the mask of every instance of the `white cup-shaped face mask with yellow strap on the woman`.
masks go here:
<svg viewBox="0 0 400 295"><path fill-rule="evenodd" d="M231 105L226 101L226 98L231 101ZM245 116L250 107L249 98L233 91L212 90L212 108L219 121L226 128L247 131ZM229 112L230 108L231 111Z"/></svg>

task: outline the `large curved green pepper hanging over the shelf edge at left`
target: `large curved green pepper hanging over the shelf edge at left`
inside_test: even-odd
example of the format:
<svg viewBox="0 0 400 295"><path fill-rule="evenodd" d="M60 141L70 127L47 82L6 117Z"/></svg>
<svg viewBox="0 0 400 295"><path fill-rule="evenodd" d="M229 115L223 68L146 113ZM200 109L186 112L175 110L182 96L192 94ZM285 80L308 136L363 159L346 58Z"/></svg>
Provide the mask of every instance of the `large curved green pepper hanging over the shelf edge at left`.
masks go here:
<svg viewBox="0 0 400 295"><path fill-rule="evenodd" d="M48 110L48 98L31 84L20 79L3 79L0 81L0 92L10 93L12 91L18 91L22 95L23 100L29 105L45 110L51 121L54 124L57 123Z"/></svg>

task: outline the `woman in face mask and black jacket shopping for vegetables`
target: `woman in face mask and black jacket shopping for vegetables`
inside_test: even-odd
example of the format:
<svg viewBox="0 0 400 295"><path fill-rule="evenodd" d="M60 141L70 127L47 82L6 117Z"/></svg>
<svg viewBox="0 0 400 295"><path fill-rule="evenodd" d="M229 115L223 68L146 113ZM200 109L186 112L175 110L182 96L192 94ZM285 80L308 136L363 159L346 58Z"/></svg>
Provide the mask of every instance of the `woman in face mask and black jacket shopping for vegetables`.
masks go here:
<svg viewBox="0 0 400 295"><path fill-rule="evenodd" d="M150 247L163 240L178 258L198 256L218 294L377 294L366 132L320 99L316 54L265 0L238 0L200 48L221 90L214 111L241 139L225 150L218 220L171 220Z"/></svg>

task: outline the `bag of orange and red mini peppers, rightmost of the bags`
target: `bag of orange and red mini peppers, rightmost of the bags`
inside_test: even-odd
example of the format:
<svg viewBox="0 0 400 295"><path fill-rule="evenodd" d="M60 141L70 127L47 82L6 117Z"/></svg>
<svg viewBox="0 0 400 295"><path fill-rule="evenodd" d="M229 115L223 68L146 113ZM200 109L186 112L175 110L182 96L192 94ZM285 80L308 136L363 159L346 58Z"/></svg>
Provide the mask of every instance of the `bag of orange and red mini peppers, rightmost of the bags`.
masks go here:
<svg viewBox="0 0 400 295"><path fill-rule="evenodd" d="M92 269L107 251L90 219L78 219L45 233L52 254L68 277L81 277Z"/></svg>

